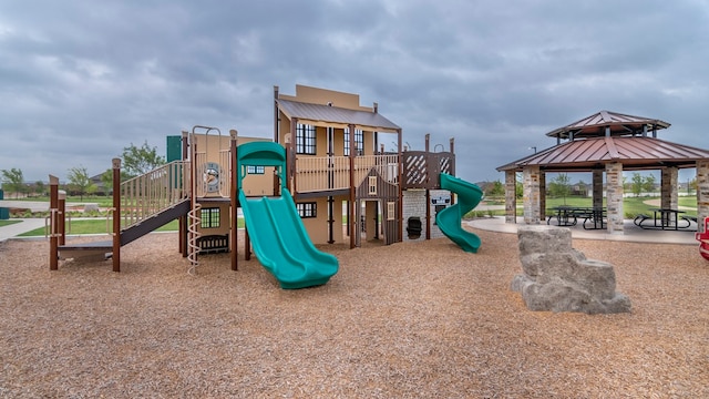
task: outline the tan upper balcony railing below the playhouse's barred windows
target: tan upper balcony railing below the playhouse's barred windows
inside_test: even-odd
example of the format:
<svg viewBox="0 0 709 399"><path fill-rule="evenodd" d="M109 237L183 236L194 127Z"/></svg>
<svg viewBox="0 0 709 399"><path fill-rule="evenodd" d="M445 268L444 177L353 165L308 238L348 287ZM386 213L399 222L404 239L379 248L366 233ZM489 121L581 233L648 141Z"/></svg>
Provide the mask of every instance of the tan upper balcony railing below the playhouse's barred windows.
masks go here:
<svg viewBox="0 0 709 399"><path fill-rule="evenodd" d="M354 185L374 167L382 178L398 183L397 155L363 155L354 157ZM296 192L308 193L350 187L349 156L299 157L296 161Z"/></svg>

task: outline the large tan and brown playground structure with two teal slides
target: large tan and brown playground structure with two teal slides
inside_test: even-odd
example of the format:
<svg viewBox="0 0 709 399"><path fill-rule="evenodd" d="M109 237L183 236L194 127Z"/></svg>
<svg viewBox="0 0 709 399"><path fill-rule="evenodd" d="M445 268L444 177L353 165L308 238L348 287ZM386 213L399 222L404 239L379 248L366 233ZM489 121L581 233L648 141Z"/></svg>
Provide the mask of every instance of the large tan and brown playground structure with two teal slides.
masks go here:
<svg viewBox="0 0 709 399"><path fill-rule="evenodd" d="M122 246L179 219L179 252L189 260L189 273L196 270L199 254L220 252L230 253L232 269L236 270L237 209L242 208L245 260L250 259L253 247L281 287L320 285L337 273L338 265L314 244L343 244L349 238L350 247L356 247L362 236L386 245L403 241L403 192L425 195L424 206L409 206L407 214L424 221L419 232L424 231L427 239L434 231L435 209L444 215L440 221L436 217L436 228L465 250L477 249L480 239L464 234L461 217L480 202L482 192L477 194L476 186L455 177L443 177L454 174L453 140L450 152L430 152L429 135L425 151L404 151L401 130L383 116L377 117L377 106L362 110L354 94L314 88L306 88L305 93L308 101L328 98L349 104L350 109L335 111L350 123L304 119L307 110L332 112L335 108L331 102L284 99L276 90L275 141L240 137L235 130L224 136L216 127L197 125L191 133L167 137L167 164L123 183L121 161L114 158L113 206L106 221L111 241L66 244L64 198L58 190L59 180L50 176L50 269L58 269L63 258L96 256L111 257L113 270L120 272ZM378 122L353 123L371 120ZM394 131L399 151L384 152L373 131L382 129L380 125ZM326 145L316 151L317 143ZM311 153L302 154L308 145ZM452 188L443 187L449 181L455 183ZM445 205L436 205L430 194L434 190L456 191L460 206L452 197ZM440 212L440 206L451 207ZM420 214L412 216L412 212ZM346 228L341 217L346 217Z"/></svg>

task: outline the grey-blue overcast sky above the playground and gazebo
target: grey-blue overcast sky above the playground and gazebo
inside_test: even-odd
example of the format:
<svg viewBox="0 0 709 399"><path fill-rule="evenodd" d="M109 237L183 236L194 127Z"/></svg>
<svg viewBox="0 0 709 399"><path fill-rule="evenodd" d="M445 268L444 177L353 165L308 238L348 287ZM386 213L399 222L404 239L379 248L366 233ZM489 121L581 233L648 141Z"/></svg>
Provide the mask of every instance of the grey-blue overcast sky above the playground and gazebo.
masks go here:
<svg viewBox="0 0 709 399"><path fill-rule="evenodd" d="M459 176L504 181L600 110L709 147L708 71L705 0L6 0L0 170L99 174L196 124L271 137L273 86L299 83L378 102L413 150L455 137Z"/></svg>

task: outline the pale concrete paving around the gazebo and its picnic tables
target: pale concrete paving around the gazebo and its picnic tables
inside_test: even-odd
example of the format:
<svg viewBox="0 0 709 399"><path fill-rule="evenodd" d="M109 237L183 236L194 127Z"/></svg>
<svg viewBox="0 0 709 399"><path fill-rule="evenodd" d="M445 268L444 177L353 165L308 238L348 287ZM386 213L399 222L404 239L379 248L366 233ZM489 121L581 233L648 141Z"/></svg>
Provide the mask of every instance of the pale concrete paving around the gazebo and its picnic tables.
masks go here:
<svg viewBox="0 0 709 399"><path fill-rule="evenodd" d="M465 221L469 226L480 228L490 232L501 233L517 233L517 226L523 226L524 221L522 217L517 218L517 224L505 223L503 216L484 217L472 221ZM692 226L695 227L695 226ZM699 242L695 239L695 231L679 229L679 231L655 231L644 229L633 224L633 221L626 219L624 224L623 234L608 234L606 229L587 231L584 227L577 225L568 227L572 231L573 238L584 239L608 239L608 241L621 241L633 243L657 243L657 244L686 244L686 245L699 245Z"/></svg>

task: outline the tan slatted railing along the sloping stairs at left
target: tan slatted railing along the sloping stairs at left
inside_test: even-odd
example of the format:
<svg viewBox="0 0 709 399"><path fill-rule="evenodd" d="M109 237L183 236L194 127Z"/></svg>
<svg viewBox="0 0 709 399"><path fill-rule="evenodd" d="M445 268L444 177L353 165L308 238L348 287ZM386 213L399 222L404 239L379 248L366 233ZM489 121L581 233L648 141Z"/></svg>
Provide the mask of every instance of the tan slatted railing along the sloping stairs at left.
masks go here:
<svg viewBox="0 0 709 399"><path fill-rule="evenodd" d="M189 196L189 162L174 161L121 183L121 228L142 221Z"/></svg>

